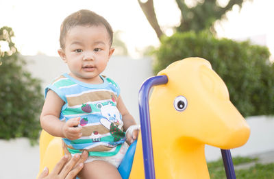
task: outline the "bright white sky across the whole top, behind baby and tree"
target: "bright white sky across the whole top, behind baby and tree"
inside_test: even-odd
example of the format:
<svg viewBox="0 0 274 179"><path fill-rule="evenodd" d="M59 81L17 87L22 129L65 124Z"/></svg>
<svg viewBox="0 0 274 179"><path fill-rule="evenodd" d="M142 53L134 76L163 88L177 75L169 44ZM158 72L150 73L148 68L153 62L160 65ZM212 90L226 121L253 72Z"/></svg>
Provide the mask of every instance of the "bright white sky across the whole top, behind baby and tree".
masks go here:
<svg viewBox="0 0 274 179"><path fill-rule="evenodd" d="M179 23L180 12L175 0L154 0L154 5L163 30L169 31ZM138 50L159 45L137 0L0 0L0 7L0 27L12 27L16 35L14 43L23 55L41 52L58 56L60 24L66 16L80 9L97 12L109 21L114 31L121 30L121 38L133 57L138 57ZM245 3L240 14L234 8L228 21L218 28L219 36L237 39L264 36L264 43L274 51L273 8L273 0Z"/></svg>

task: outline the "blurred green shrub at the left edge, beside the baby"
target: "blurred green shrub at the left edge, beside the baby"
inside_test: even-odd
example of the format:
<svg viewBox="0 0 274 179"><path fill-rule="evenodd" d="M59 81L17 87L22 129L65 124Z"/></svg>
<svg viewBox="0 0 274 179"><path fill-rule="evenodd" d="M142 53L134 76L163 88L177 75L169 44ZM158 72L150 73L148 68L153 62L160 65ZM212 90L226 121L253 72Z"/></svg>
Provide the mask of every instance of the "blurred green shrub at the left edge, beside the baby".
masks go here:
<svg viewBox="0 0 274 179"><path fill-rule="evenodd" d="M8 51L1 51L0 47L0 139L25 136L33 141L40 131L40 80L23 68L25 62L12 43L12 36L10 27L0 29L0 41L10 47Z"/></svg>

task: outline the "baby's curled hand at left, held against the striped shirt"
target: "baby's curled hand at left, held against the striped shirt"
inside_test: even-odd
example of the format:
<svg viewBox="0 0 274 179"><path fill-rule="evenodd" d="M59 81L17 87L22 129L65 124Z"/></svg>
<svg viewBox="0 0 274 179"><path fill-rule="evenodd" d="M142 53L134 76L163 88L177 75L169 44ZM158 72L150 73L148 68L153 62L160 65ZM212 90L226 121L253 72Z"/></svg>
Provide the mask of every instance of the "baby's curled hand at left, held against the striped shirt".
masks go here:
<svg viewBox="0 0 274 179"><path fill-rule="evenodd" d="M62 133L66 139L75 140L82 136L82 128L78 127L80 123L80 117L69 119L62 127Z"/></svg>

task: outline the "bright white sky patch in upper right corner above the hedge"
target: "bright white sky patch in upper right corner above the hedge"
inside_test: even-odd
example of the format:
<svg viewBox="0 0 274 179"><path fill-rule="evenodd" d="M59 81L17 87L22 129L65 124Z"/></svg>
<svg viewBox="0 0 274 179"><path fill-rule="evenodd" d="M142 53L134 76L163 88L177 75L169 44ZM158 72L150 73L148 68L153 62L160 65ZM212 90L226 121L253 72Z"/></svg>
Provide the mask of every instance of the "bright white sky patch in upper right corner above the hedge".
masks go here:
<svg viewBox="0 0 274 179"><path fill-rule="evenodd" d="M232 39L252 38L261 45L266 45L274 60L274 23L273 0L253 0L243 5L242 9L234 8L227 14L217 32L221 37Z"/></svg>

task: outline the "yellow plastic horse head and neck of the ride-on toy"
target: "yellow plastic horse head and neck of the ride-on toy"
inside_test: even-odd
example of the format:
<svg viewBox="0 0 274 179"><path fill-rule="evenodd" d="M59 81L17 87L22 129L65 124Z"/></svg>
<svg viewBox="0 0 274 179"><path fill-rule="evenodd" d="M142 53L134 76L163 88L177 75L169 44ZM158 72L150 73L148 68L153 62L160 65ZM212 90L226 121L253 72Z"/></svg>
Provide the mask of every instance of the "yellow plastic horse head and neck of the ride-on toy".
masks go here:
<svg viewBox="0 0 274 179"><path fill-rule="evenodd" d="M167 75L169 82L155 86L149 99L156 178L210 178L205 144L240 147L249 139L249 126L207 60L179 60L158 75ZM181 95L188 104L177 111L173 102ZM145 178L141 137L129 178Z"/></svg>

